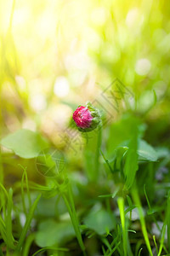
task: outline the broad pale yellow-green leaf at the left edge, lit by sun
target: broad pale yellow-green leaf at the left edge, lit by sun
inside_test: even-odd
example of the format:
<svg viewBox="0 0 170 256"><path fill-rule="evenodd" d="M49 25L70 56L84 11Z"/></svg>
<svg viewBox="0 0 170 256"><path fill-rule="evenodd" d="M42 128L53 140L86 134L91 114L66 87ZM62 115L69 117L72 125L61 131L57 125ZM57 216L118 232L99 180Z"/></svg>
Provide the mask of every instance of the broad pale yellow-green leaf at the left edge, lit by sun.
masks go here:
<svg viewBox="0 0 170 256"><path fill-rule="evenodd" d="M26 129L21 129L9 134L1 140L1 144L26 159L37 157L43 148L48 147L48 143L40 134Z"/></svg>

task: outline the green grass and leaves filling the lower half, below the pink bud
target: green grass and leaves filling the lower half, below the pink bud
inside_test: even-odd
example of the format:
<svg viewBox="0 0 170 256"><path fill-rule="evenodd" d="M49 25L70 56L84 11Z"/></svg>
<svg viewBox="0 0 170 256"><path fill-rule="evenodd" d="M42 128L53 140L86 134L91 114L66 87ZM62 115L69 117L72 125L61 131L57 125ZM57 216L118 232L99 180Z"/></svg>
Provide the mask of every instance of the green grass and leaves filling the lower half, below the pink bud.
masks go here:
<svg viewBox="0 0 170 256"><path fill-rule="evenodd" d="M125 134L122 135L125 123L127 129ZM109 126L109 129L116 133L116 142L113 143L113 139L109 136L106 143L103 144L102 134L105 135L105 130L99 130L99 133L91 134L94 140L89 139L89 143L83 149L83 154L85 154L83 164L86 168L90 167L89 170L87 169L88 172L84 174L88 174L86 185L81 180L79 181L77 176L75 180L71 179L70 183L66 170L54 171L53 175L45 176L45 184L30 182L27 176L29 166L26 168L20 164L23 170L21 183L14 187L14 191L17 191L17 188L21 189L21 204L18 210L14 207L13 189L7 191L1 185L1 209L4 219L0 218L0 230L3 243L8 247L7 250L13 250L16 256L20 253L26 256L31 250L33 242L36 242L37 247L42 247L42 249L37 249L35 255L43 251L65 253L65 250L70 249L70 246L67 245L77 238L82 252L86 253L83 240L96 240L96 237L99 237L102 242L100 249L105 255L111 255L111 253L133 255L134 251L136 252L135 255L142 255L142 243L138 243L134 249L131 242L139 232L132 225L133 211L138 209L142 230L140 239L143 236L143 244L145 244L144 253L146 253L147 248L150 255L153 254L153 245L149 236L149 232L152 231L149 231L148 227L148 224L152 223L156 224L160 234L160 241L158 236L153 236L158 255L161 256L162 252L168 252L166 226L169 230L169 203L167 202L166 220L162 219L163 225L160 228L159 216L164 206L153 204L152 193L156 193L154 185L156 183L156 172L159 172L161 166L168 163L169 150L165 147L155 149L149 143L146 143L144 140L146 126L132 114L122 116L122 119ZM17 133L18 135L15 136ZM38 154L38 163L41 162L45 168L45 171L38 172L38 175L42 175L42 173L46 175L46 169L51 168L51 166L54 166L55 169L55 160L54 157L51 157L49 151L42 151L44 154L39 152L48 143L37 132L26 130L15 132L11 136L2 139L3 146L12 148L9 145L14 145L12 148L14 154L19 154L19 149L17 149L19 143L16 144L16 138L20 135L25 137L24 147L26 147L26 150L23 151L23 159L29 158L31 155L36 157ZM28 141L29 147L26 146ZM36 148L34 148L35 143ZM23 150L23 145L20 144L20 147ZM93 154L94 159L90 157ZM10 159L11 154L4 154L3 159L4 157ZM161 161L158 161L158 159ZM103 172L104 168L106 172ZM71 176L69 175L69 177ZM94 183L96 189L93 191ZM73 187L73 191L71 187ZM92 191L88 192L88 189ZM35 195L31 190L40 191L42 196L46 198L40 200L41 195L39 195L32 204L32 196L35 198ZM76 191L78 195L75 194ZM92 200L88 198L88 193L93 196ZM129 195L132 196L132 199ZM162 201L164 195L166 195L166 192L162 195L158 194L158 200ZM146 213L144 213L141 203L143 196L147 201L148 209ZM84 206L86 201L87 205ZM113 208L116 209L116 202L120 211L118 216L113 211ZM96 207L94 207L94 204ZM77 212L77 206L80 207L80 212ZM89 208L88 211L86 207ZM17 235L14 233L12 211L15 214L23 212L26 217L26 222ZM61 220L65 218L67 211L70 218ZM31 229L32 218L36 218L37 229L34 233L31 233L31 236L29 230Z"/></svg>

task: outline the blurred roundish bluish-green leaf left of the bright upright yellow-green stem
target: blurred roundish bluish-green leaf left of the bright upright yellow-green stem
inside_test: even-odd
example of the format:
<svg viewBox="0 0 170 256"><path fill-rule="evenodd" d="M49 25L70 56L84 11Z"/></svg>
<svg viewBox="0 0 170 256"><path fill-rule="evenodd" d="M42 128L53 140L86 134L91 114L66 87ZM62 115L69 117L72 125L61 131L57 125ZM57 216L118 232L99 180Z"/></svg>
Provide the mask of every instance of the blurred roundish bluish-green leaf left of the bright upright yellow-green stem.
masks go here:
<svg viewBox="0 0 170 256"><path fill-rule="evenodd" d="M113 218L111 218L113 217ZM99 209L97 212L92 211L84 219L84 224L90 230L94 230L99 235L104 235L107 230L111 231L116 226L114 215L111 216L105 209Z"/></svg>

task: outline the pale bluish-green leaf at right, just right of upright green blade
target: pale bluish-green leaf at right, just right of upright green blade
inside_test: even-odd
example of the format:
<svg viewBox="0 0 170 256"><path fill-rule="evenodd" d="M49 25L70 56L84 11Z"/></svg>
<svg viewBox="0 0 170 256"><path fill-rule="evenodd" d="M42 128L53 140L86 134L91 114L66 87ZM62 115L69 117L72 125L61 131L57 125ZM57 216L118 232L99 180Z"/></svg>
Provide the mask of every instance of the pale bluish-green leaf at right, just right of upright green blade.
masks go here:
<svg viewBox="0 0 170 256"><path fill-rule="evenodd" d="M139 140L138 154L145 160L156 161L157 154L156 150L146 143L144 140Z"/></svg>

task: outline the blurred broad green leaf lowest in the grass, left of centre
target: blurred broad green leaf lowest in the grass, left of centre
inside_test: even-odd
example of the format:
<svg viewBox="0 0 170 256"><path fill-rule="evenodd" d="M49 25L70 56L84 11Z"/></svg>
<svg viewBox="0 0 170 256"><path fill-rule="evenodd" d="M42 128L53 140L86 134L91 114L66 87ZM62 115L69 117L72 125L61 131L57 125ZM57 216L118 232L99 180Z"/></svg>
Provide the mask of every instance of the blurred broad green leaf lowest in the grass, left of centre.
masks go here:
<svg viewBox="0 0 170 256"><path fill-rule="evenodd" d="M53 219L48 219L39 224L36 243L39 247L52 247L69 241L75 236L75 230L70 221L57 223Z"/></svg>

